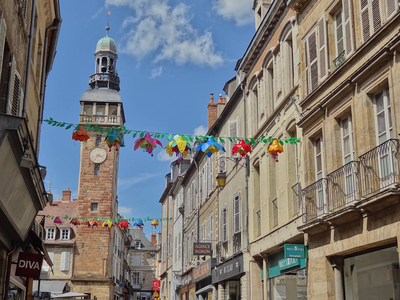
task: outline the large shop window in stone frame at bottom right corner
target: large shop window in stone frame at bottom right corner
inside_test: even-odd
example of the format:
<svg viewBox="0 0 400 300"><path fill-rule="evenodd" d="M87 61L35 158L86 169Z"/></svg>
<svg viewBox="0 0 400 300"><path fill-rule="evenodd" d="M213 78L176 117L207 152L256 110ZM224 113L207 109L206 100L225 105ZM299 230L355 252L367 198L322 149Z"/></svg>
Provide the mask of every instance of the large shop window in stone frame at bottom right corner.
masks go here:
<svg viewBox="0 0 400 300"><path fill-rule="evenodd" d="M397 247L344 259L346 300L400 299Z"/></svg>

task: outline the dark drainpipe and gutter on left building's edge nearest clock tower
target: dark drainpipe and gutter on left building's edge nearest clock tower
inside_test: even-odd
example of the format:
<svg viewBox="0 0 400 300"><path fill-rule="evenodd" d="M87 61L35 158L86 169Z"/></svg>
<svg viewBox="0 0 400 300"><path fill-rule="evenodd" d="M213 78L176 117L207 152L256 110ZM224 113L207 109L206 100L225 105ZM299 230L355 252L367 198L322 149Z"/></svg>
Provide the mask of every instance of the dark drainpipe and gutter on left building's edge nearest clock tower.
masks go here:
<svg viewBox="0 0 400 300"><path fill-rule="evenodd" d="M44 109L44 93L46 91L46 81L47 76L53 66L54 56L56 55L56 46L58 42L58 35L60 34L60 26L62 19L60 17L60 3L59 0L54 0L54 10L56 12L56 20L55 26L46 29L45 37L44 37L44 49L43 49L43 62L42 62L42 76L40 80L40 106L39 106L39 120L36 130L36 160L39 158L39 146L40 146L40 128L42 126L43 120L43 109ZM50 30L54 30L52 34L49 55L48 55L48 62L46 63L47 59L47 44L48 44L48 32ZM26 93L25 93L26 94Z"/></svg>

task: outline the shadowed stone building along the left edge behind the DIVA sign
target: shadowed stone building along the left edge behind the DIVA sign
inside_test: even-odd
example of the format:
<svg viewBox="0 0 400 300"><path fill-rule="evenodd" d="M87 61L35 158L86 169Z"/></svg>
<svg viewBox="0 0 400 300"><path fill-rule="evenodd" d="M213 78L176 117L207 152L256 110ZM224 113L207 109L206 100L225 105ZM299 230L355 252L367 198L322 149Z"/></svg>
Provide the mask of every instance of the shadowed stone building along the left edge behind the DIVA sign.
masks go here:
<svg viewBox="0 0 400 300"><path fill-rule="evenodd" d="M20 252L36 251L49 260L41 239L43 226L34 220L38 211L52 202L43 183L45 168L38 162L38 141L45 82L53 64L60 25L58 0L0 1L2 295L31 295L32 279L15 276L16 266L11 264Z"/></svg>

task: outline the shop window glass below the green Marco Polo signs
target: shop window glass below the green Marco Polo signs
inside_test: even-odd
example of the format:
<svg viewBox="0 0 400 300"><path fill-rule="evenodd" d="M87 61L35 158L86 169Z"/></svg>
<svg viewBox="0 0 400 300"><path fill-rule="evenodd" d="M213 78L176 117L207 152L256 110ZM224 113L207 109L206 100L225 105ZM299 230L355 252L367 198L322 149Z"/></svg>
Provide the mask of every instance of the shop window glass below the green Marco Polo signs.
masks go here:
<svg viewBox="0 0 400 300"><path fill-rule="evenodd" d="M306 270L298 270L271 278L272 300L306 300Z"/></svg>

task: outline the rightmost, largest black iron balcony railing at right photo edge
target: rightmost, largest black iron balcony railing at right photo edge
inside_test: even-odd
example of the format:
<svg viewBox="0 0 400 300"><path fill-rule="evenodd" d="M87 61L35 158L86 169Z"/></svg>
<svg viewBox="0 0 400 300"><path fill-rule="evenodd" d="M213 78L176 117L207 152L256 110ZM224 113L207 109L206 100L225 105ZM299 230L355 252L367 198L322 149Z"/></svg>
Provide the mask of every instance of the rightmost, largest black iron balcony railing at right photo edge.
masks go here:
<svg viewBox="0 0 400 300"><path fill-rule="evenodd" d="M400 183L399 140L390 139L358 158L361 197Z"/></svg>

